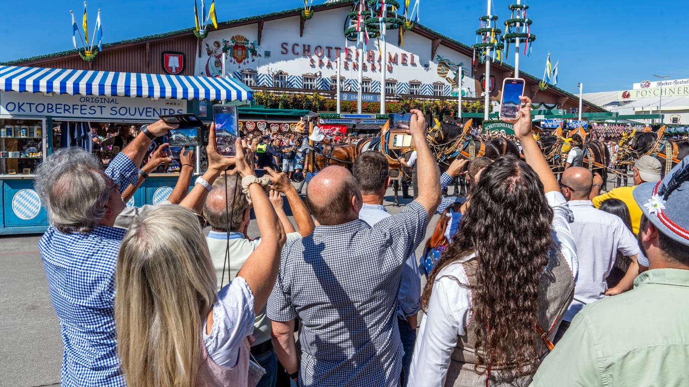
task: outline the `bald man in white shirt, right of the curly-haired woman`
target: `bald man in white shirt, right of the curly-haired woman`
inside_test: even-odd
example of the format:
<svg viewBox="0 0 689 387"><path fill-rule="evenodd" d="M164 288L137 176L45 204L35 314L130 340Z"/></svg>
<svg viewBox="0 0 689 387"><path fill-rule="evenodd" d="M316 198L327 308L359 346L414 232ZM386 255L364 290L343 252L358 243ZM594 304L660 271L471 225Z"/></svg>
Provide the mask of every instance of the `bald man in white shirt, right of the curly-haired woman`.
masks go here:
<svg viewBox="0 0 689 387"><path fill-rule="evenodd" d="M570 322L584 305L606 295L616 295L632 289L634 279L639 275L638 262L648 262L644 253L639 250L634 234L621 218L593 207L593 202L589 200L592 186L593 175L586 168L570 167L562 174L562 194L574 213L574 222L569 226L577 244L579 275L574 300L555 335L555 342L564 335ZM632 263L619 284L607 289L606 278L615 265L618 251L628 256Z"/></svg>

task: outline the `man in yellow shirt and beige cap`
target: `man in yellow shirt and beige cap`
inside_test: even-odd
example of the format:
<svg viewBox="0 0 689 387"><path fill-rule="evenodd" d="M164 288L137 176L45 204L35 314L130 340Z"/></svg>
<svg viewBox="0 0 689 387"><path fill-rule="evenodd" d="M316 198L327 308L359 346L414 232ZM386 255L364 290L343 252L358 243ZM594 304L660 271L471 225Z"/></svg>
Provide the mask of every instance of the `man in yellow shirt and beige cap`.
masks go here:
<svg viewBox="0 0 689 387"><path fill-rule="evenodd" d="M660 180L660 172L663 166L657 158L644 155L634 163L634 187L617 187L608 193L598 195L601 189L601 178L594 178L593 189L591 189L591 201L596 208L601 206L603 200L615 198L622 200L629 209L632 218L632 228L635 234L639 233L639 222L641 222L641 207L637 205L632 196L632 191L637 185L643 182L657 182Z"/></svg>

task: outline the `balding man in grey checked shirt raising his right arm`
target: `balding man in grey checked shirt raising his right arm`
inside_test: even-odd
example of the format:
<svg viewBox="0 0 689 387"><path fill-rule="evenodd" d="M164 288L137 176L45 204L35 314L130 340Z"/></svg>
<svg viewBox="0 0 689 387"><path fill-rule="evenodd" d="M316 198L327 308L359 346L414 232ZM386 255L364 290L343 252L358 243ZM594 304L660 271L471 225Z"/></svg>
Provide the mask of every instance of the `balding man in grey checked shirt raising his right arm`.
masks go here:
<svg viewBox="0 0 689 387"><path fill-rule="evenodd" d="M307 188L311 236L282 250L267 315L278 359L301 386L396 386L402 369L397 297L402 266L424 239L440 202L438 166L426 122L412 110L420 192L395 216L370 227L349 171L327 167ZM302 321L301 362L294 324Z"/></svg>

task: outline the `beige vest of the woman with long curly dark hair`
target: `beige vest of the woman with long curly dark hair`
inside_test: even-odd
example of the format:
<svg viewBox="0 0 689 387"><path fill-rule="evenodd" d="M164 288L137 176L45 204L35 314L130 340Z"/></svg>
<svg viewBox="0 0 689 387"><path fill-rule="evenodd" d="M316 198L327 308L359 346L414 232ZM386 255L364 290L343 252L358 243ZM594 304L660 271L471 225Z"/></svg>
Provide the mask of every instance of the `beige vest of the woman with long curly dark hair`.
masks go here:
<svg viewBox="0 0 689 387"><path fill-rule="evenodd" d="M469 278L469 284L476 283L476 259L464 262L464 270ZM548 251L548 264L541 273L539 284L538 306L536 310L538 324L544 332L548 333L551 341L555 338L557 328L562 317L574 297L574 277L567 264L562 252L555 246L551 246ZM466 326L466 335L457 339L457 347L451 355L451 362L445 386L465 387L465 386L528 386L536 370L529 376L513 378L511 373L500 368L491 368L489 373L477 374L474 365L477 362L474 348L476 335L474 333L477 322L474 318L469 320ZM548 347L543 339L538 335L536 329L533 330L535 348L541 354L541 360L548 354ZM484 356L485 358L485 356ZM485 368L478 368L484 371ZM486 382L486 378L489 380Z"/></svg>

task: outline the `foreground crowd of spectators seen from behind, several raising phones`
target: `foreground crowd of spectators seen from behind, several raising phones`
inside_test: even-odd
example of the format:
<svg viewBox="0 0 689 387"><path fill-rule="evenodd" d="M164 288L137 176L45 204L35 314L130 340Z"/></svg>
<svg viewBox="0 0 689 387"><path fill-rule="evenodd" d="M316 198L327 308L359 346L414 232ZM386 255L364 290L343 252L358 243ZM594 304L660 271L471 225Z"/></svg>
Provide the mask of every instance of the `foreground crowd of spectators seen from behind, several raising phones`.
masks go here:
<svg viewBox="0 0 689 387"><path fill-rule="evenodd" d="M302 200L286 157L298 138L247 136L233 158L207 147L190 191L183 160L166 202L126 209L169 161L150 146L173 125L143 125L104 171L82 149L54 152L35 187L61 385L686 384L689 160L661 180L641 157L634 187L602 194L573 163L558 180L522 103L510 123L523 159L455 160L442 174L413 110L417 184L395 215L376 151L351 172L322 169ZM468 195L442 198L460 174Z"/></svg>

